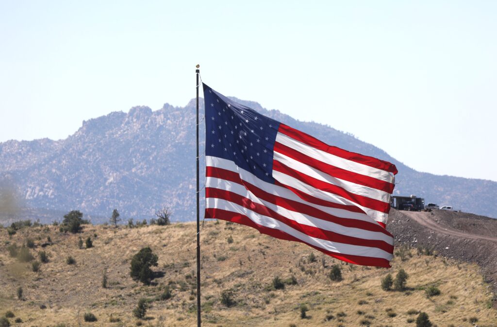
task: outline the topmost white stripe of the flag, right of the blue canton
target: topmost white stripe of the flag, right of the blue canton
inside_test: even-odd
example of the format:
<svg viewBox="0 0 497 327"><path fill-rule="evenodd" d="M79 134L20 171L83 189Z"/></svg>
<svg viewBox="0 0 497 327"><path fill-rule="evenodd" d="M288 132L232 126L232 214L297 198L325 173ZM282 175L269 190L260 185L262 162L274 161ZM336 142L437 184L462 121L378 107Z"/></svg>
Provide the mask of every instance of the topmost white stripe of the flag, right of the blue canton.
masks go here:
<svg viewBox="0 0 497 327"><path fill-rule="evenodd" d="M394 183L394 176L385 170L370 167L355 161L351 161L348 159L344 159L338 156L335 156L331 153L316 149L312 146L304 144L296 139L291 138L281 132L276 134L276 142L279 142L283 145L286 145L298 152L301 152L311 158L314 158L319 161L326 162L332 166L342 168L357 174L361 174L364 176L369 176L376 178L380 181L385 181L389 183Z"/></svg>

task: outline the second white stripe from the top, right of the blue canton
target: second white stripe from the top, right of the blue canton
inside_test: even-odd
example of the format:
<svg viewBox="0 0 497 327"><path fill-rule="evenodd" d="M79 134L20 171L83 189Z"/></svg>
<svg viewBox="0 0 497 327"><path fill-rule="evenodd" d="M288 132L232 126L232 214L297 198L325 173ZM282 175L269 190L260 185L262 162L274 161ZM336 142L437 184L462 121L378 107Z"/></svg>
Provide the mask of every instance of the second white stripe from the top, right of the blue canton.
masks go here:
<svg viewBox="0 0 497 327"><path fill-rule="evenodd" d="M320 181L341 187L342 189L350 193L357 194L363 197L368 197L385 203L390 202L390 194L385 191L381 191L361 184L356 184L333 177L327 173L322 172L321 170L313 168L309 165L306 165L298 160L290 158L287 155L284 155L276 151L274 151L274 159L276 161L281 162L285 166L290 167L291 169L297 170L303 174L306 174L307 176L316 178Z"/></svg>

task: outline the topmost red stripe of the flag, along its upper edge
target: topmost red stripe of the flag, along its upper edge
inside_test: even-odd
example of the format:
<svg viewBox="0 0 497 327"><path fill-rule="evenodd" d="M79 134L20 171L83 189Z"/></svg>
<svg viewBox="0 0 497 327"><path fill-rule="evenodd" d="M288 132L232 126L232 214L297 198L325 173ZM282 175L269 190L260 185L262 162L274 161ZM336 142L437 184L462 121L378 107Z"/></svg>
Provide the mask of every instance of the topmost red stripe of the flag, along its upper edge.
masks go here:
<svg viewBox="0 0 497 327"><path fill-rule="evenodd" d="M360 164L363 164L363 165L366 165L369 167L385 170L385 171L391 172L393 174L397 174L397 172L398 172L395 165L388 162L388 161L380 160L380 159L373 158L370 156L365 156L365 155L355 153L355 152L346 151L346 150L340 149L336 146L328 145L328 144L318 140L317 138L312 137L309 134L301 132L300 130L297 130L295 128L289 127L285 124L279 125L278 132L281 132L287 136L290 136L291 138L293 138L297 141L300 141L302 143L305 143L309 146L312 146L316 149L331 153L332 155L335 155L337 157L347 159L350 161L354 161L354 162L357 162L357 163L360 163Z"/></svg>

